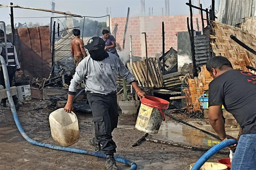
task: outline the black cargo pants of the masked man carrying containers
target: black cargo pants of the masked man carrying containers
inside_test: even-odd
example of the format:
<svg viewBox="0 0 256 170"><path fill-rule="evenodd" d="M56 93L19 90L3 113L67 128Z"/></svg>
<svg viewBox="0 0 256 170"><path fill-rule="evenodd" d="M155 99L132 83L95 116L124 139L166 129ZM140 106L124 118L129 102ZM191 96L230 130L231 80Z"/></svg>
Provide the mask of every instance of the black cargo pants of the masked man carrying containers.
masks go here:
<svg viewBox="0 0 256 170"><path fill-rule="evenodd" d="M112 155L116 152L112 132L117 127L119 116L116 93L105 95L87 92L87 99L92 109L95 138L100 140L102 152Z"/></svg>

